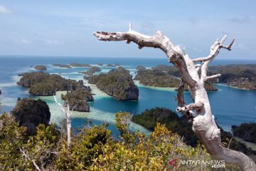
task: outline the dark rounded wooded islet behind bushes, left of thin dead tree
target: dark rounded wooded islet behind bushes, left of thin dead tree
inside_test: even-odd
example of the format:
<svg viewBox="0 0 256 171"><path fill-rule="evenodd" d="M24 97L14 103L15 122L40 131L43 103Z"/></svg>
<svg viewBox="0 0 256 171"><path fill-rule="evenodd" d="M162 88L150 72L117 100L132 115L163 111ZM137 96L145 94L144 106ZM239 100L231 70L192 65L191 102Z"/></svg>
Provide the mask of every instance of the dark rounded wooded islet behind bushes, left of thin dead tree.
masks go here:
<svg viewBox="0 0 256 171"><path fill-rule="evenodd" d="M46 102L23 98L17 101L16 107L11 110L19 126L26 127L28 135L36 134L36 127L39 124L48 125L50 121L50 109Z"/></svg>

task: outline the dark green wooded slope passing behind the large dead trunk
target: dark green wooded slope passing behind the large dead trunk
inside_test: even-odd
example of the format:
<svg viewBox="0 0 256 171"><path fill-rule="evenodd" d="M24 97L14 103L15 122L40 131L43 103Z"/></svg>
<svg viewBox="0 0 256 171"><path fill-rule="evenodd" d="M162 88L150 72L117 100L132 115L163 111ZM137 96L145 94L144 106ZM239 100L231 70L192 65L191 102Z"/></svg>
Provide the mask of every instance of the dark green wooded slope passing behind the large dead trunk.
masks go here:
<svg viewBox="0 0 256 171"><path fill-rule="evenodd" d="M191 145L192 147L196 147L197 145L198 138L196 138L196 135L192 131L192 123L188 123L185 116L179 118L178 115L170 109L153 108L150 110L145 110L139 115L134 115L132 121L144 126L145 128L148 128L149 130L154 130L157 123L164 124L166 125L166 128L172 132L183 136L184 142L186 142L187 145ZM224 131L222 128L220 128L220 133L221 139L223 140L223 145L228 146L228 143L231 138L233 138L233 135ZM246 155L256 155L256 151L252 150L251 148L247 148L245 144L234 139L230 142L230 148L244 152ZM254 160L256 160L256 158Z"/></svg>

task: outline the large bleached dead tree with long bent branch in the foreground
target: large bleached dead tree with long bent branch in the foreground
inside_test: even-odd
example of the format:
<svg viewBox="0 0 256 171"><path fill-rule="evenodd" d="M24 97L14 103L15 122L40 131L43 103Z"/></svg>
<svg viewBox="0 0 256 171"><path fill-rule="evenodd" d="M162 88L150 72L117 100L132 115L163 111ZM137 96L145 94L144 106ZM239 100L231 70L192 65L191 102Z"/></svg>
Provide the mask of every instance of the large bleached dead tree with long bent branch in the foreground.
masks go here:
<svg viewBox="0 0 256 171"><path fill-rule="evenodd" d="M181 76L181 85L178 88L176 110L180 113L188 115L193 121L192 130L201 140L206 150L216 160L225 160L225 162L238 165L241 170L256 170L255 162L250 157L238 152L225 148L221 145L220 129L218 129L214 117L210 110L210 102L204 83L212 78L217 78L220 74L207 76L208 66L211 61L218 55L221 48L231 51L233 41L228 46L223 43L227 36L225 35L220 41L217 39L213 46L210 46L210 54L202 58L191 59L185 50L174 46L170 39L164 36L161 31L156 31L154 36L146 36L142 33L132 30L132 25L129 25L127 32L108 33L97 31L94 33L100 41L126 41L127 43L137 43L139 49L143 47L160 48L169 58L169 63L173 63L178 68ZM196 64L201 62L201 64ZM198 71L201 69L201 75ZM191 98L194 103L186 105L183 99L184 83L189 86Z"/></svg>

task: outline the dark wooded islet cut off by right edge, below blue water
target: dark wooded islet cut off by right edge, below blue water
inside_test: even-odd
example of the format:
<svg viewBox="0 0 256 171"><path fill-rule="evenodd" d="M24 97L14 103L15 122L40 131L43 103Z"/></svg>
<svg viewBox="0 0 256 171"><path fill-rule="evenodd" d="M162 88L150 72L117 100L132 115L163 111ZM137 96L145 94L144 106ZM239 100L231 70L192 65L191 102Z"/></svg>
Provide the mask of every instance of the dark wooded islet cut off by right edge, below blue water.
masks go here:
<svg viewBox="0 0 256 171"><path fill-rule="evenodd" d="M232 125L232 132L242 140L256 143L256 123L242 123L239 126Z"/></svg>

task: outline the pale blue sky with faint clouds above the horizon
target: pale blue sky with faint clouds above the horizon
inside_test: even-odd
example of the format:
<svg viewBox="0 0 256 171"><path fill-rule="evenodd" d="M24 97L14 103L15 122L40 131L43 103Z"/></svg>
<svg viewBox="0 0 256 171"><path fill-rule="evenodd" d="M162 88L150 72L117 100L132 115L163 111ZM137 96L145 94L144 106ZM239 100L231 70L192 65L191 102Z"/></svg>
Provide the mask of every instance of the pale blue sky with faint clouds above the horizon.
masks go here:
<svg viewBox="0 0 256 171"><path fill-rule="evenodd" d="M256 1L0 0L0 55L165 58L159 49L98 41L94 31L159 30L191 58L235 38L218 58L256 59Z"/></svg>

